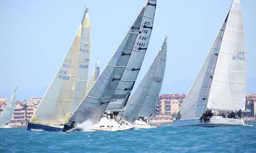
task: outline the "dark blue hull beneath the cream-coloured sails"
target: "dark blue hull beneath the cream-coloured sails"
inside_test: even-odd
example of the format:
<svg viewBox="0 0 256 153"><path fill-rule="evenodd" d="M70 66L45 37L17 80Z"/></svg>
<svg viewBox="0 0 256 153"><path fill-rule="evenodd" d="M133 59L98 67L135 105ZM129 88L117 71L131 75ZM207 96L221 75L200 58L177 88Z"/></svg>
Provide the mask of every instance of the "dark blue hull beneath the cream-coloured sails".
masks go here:
<svg viewBox="0 0 256 153"><path fill-rule="evenodd" d="M36 123L27 123L27 131L29 130L44 130L44 131L62 131L62 128L58 128L58 127L51 127L48 125L44 125L44 124L36 124Z"/></svg>

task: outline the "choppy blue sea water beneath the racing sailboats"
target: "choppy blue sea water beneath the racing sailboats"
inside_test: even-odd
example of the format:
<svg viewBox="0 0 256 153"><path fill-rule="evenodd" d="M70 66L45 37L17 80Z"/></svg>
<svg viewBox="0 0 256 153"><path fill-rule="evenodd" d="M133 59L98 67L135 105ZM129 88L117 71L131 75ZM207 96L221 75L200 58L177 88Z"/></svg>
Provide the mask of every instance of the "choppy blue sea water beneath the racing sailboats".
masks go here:
<svg viewBox="0 0 256 153"><path fill-rule="evenodd" d="M254 127L172 127L127 131L0 129L0 152L217 152L256 153Z"/></svg>

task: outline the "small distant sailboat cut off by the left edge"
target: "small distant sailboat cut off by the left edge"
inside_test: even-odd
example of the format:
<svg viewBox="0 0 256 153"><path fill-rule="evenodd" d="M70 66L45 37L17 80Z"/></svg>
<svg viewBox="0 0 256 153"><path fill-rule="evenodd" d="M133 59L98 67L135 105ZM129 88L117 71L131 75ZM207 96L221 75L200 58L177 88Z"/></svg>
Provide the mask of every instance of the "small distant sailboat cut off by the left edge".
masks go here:
<svg viewBox="0 0 256 153"><path fill-rule="evenodd" d="M17 91L17 87L15 88L15 91L12 94L12 97L10 98L8 103L5 105L5 108L2 110L0 114L0 128L10 127L8 126L8 123L12 119L12 114L15 108L16 91Z"/></svg>

